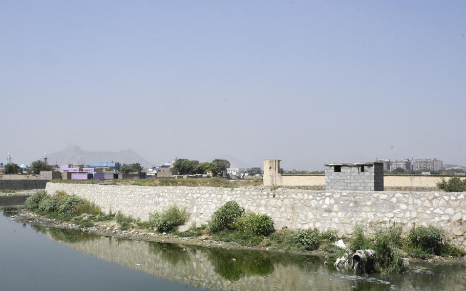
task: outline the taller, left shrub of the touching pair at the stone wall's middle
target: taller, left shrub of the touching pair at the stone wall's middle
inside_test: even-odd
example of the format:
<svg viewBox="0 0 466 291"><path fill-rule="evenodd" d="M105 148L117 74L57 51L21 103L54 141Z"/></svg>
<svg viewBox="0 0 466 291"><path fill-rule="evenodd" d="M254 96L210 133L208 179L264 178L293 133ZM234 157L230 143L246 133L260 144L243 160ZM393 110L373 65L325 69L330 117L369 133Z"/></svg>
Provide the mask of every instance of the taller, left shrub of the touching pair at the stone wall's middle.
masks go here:
<svg viewBox="0 0 466 291"><path fill-rule="evenodd" d="M221 230L232 230L235 228L235 221L244 213L243 207L235 201L228 201L223 204L214 214L208 223L208 230L211 233Z"/></svg>

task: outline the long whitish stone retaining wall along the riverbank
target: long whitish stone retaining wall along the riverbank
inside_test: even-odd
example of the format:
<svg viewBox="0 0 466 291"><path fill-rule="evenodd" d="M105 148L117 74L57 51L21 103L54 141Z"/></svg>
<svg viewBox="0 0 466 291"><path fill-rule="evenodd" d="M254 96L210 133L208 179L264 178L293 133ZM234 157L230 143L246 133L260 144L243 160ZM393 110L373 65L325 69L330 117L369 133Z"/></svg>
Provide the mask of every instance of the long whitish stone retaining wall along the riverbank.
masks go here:
<svg viewBox="0 0 466 291"><path fill-rule="evenodd" d="M89 199L104 212L121 211L142 220L149 213L171 205L186 206L192 213L186 225L207 223L229 200L246 210L266 213L276 228L317 227L350 232L356 223L400 222L406 229L435 224L466 249L466 193L270 190L266 187L148 187L47 183L46 190L66 191Z"/></svg>

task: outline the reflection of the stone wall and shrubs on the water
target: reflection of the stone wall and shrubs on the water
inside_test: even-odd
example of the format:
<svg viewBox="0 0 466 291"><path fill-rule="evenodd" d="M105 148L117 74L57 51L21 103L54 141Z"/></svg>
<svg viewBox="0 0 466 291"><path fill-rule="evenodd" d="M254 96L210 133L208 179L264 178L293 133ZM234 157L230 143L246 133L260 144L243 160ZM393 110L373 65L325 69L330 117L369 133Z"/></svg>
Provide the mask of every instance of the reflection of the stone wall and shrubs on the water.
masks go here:
<svg viewBox="0 0 466 291"><path fill-rule="evenodd" d="M44 228L36 228L44 231ZM45 230L80 252L157 277L216 290L463 290L463 264L430 266L429 274L353 276L325 266L319 257L225 250ZM75 232L76 233L76 232Z"/></svg>

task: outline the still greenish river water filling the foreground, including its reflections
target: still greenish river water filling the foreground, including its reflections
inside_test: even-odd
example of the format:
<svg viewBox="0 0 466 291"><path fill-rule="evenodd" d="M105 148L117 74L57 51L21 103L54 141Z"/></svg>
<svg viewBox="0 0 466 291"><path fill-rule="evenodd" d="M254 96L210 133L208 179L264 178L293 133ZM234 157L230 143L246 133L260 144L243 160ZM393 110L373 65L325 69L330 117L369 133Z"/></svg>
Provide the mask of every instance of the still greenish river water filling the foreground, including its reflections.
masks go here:
<svg viewBox="0 0 466 291"><path fill-rule="evenodd" d="M116 239L17 223L0 209L1 290L464 290L463 262L354 276L323 258Z"/></svg>

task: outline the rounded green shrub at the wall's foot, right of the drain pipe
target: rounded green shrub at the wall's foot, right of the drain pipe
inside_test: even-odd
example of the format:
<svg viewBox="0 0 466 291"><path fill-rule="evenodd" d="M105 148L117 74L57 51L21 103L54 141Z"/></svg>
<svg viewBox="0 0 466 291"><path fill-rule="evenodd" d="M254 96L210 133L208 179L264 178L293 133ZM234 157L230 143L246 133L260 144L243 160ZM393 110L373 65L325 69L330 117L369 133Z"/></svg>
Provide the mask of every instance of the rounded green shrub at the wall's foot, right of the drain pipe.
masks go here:
<svg viewBox="0 0 466 291"><path fill-rule="evenodd" d="M427 254L440 255L443 245L443 230L438 227L417 226L412 228L406 236L407 246L413 250Z"/></svg>

